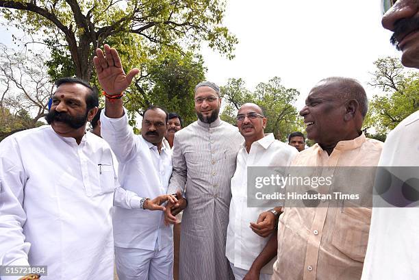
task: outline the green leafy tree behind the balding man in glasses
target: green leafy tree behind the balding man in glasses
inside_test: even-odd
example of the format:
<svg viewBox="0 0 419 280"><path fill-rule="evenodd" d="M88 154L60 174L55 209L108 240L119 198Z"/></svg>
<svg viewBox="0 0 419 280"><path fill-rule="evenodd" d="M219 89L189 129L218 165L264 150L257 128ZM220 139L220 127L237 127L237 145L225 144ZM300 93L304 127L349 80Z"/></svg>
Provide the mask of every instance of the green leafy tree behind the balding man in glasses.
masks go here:
<svg viewBox="0 0 419 280"><path fill-rule="evenodd" d="M296 107L292 105L299 96L298 90L285 88L281 79L274 77L267 83L259 83L254 92L245 88L242 79L229 79L221 88L223 100L227 102L220 117L236 125L236 114L241 105L253 102L262 107L268 118L266 133L274 133L275 138L285 141L292 131L303 127Z"/></svg>

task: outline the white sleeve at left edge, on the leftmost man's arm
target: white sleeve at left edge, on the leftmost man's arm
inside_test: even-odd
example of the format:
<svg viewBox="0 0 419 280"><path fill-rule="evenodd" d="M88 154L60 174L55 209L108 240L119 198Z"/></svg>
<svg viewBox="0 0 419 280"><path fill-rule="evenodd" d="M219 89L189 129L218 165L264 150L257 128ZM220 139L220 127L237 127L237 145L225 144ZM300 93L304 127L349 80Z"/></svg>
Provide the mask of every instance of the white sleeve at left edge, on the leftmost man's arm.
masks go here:
<svg viewBox="0 0 419 280"><path fill-rule="evenodd" d="M31 244L25 242L23 210L25 169L14 138L0 143L0 265L29 266L27 254ZM18 279L19 277L0 277Z"/></svg>

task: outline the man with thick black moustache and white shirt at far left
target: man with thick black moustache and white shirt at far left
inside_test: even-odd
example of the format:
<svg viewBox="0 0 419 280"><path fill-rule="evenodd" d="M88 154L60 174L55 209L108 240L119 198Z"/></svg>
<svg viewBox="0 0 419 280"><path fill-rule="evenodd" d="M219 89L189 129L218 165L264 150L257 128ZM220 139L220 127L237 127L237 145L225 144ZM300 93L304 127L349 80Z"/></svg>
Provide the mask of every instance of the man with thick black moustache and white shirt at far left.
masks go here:
<svg viewBox="0 0 419 280"><path fill-rule="evenodd" d="M110 147L85 133L97 94L79 79L55 86L50 125L0 143L0 265L47 266L42 279L113 279L113 204L164 209L168 196L144 201L120 188ZM20 277L5 271L2 280Z"/></svg>

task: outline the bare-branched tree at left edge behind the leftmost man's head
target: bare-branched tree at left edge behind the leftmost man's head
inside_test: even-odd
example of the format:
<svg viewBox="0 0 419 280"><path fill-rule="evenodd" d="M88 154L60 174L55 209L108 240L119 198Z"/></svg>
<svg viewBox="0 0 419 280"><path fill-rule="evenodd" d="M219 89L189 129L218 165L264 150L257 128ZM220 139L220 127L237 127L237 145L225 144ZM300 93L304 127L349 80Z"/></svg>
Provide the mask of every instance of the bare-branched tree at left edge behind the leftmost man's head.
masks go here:
<svg viewBox="0 0 419 280"><path fill-rule="evenodd" d="M14 51L0 44L1 133L36 127L46 116L53 85L44 60L38 53Z"/></svg>

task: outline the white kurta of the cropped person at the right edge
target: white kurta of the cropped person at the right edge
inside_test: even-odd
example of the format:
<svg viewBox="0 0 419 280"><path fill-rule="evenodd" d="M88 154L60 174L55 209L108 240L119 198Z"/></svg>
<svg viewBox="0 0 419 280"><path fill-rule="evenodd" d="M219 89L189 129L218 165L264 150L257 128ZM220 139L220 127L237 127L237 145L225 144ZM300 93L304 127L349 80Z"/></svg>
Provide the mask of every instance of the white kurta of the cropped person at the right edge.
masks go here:
<svg viewBox="0 0 419 280"><path fill-rule="evenodd" d="M379 166L419 166L419 111L411 114L385 140ZM401 179L416 179L419 175ZM418 191L418 190L416 190ZM403 197L402 193L396 193ZM397 200L394 197L394 200ZM377 204L376 204L377 203ZM370 238L362 280L419 279L419 202L394 207L374 196ZM387 205L388 207L383 207Z"/></svg>

